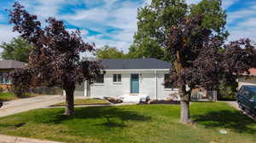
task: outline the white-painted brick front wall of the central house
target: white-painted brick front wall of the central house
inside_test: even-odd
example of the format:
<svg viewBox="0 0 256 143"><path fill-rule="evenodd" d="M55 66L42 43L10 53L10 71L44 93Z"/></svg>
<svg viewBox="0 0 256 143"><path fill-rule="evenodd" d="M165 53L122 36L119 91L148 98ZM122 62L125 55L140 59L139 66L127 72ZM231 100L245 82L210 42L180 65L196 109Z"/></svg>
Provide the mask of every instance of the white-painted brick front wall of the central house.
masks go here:
<svg viewBox="0 0 256 143"><path fill-rule="evenodd" d="M104 75L104 83L94 83L90 86L90 97L103 98L116 97L118 95L130 94L131 90L131 74L139 74L139 89L140 94L147 94L150 99L164 100L173 91L171 89L164 88L164 75L169 71L157 71L155 78L154 70L140 70L140 71L107 71ZM113 83L113 74L121 74L122 82ZM157 86L157 87L156 87ZM85 88L86 89L86 88ZM86 93L86 92L85 92Z"/></svg>

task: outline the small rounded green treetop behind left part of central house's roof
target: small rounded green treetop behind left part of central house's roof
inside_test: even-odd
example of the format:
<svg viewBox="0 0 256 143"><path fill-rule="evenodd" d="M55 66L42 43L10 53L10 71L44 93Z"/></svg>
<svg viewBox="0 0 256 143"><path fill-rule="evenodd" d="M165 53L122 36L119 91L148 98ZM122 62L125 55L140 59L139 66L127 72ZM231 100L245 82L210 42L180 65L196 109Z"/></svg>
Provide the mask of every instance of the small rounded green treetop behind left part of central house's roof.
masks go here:
<svg viewBox="0 0 256 143"><path fill-rule="evenodd" d="M96 58L103 59L124 59L126 55L123 51L119 51L114 47L109 47L108 45L102 47L101 49L96 49Z"/></svg>

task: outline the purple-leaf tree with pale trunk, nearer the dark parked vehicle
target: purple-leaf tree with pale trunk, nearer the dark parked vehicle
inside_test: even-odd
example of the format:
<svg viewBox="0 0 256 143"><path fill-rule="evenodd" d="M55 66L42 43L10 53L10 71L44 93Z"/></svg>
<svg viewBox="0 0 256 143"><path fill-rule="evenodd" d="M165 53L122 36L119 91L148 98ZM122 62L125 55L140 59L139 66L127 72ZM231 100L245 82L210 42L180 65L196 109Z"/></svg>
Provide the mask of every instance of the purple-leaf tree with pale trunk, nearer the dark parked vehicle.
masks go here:
<svg viewBox="0 0 256 143"><path fill-rule="evenodd" d="M167 41L167 51L176 58L167 83L177 84L182 123L190 122L192 89L217 89L221 80L234 82L239 75L255 66L254 47L249 39L224 44L222 38L201 25L200 14L180 20L170 28Z"/></svg>

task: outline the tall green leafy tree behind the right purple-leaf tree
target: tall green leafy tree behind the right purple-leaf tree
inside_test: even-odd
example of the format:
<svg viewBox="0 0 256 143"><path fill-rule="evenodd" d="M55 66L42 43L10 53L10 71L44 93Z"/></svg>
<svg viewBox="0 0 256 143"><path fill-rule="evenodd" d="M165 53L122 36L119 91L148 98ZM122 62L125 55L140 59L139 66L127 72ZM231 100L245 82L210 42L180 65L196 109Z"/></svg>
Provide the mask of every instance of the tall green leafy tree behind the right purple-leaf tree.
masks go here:
<svg viewBox="0 0 256 143"><path fill-rule="evenodd" d="M219 0L202 0L201 3L188 5L184 0L152 0L150 5L138 10L137 28L129 55L131 58L156 58L173 61L166 52L166 38L169 28L184 17L203 15L203 24L225 39L228 32L224 30L226 14Z"/></svg>

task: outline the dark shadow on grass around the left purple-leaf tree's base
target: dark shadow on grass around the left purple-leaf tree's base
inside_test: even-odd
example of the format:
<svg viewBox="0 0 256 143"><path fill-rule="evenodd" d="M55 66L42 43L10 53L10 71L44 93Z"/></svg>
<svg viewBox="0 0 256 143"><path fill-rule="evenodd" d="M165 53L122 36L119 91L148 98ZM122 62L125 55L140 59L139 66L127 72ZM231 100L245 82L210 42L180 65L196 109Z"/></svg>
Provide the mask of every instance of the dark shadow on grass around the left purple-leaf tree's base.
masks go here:
<svg viewBox="0 0 256 143"><path fill-rule="evenodd" d="M45 117L48 116L48 117ZM96 126L125 128L125 121L149 121L151 117L140 115L138 112L132 112L113 106L95 106L95 107L79 107L75 109L75 115L67 117L63 112L55 115L44 114L46 120L39 120L38 123L54 123L60 124L64 121L73 119L100 119L103 123L95 124Z"/></svg>

